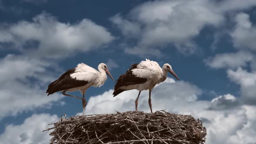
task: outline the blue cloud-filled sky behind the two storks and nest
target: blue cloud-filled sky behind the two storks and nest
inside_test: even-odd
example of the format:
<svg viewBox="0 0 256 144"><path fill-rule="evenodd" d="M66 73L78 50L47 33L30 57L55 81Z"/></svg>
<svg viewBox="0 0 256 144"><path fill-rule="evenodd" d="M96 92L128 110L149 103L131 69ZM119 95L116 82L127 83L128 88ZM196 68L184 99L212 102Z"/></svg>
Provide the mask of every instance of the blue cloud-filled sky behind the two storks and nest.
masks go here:
<svg viewBox="0 0 256 144"><path fill-rule="evenodd" d="M78 63L114 79L145 59L169 63L153 111L200 118L206 144L256 144L256 0L0 0L0 144L48 144L49 123L82 114L49 83ZM138 91L112 97L108 77L85 114L134 111ZM72 95L81 96L80 92ZM138 110L150 112L148 92Z"/></svg>

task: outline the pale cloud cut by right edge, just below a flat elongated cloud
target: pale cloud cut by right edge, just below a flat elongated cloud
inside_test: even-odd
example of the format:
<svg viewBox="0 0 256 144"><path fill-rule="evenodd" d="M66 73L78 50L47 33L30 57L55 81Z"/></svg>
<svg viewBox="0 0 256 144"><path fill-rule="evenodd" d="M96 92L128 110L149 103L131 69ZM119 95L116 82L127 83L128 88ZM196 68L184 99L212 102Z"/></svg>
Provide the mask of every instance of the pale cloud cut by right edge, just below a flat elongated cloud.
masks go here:
<svg viewBox="0 0 256 144"><path fill-rule="evenodd" d="M256 105L256 72L247 72L242 68L236 71L228 69L228 78L240 85L242 100L250 105Z"/></svg>

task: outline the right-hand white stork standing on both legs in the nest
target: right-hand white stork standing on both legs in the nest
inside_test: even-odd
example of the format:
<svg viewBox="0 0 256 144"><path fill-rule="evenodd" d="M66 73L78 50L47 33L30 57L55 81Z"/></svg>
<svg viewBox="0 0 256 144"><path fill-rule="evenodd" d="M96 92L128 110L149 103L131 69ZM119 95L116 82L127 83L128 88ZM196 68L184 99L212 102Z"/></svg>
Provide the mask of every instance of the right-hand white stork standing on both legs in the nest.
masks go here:
<svg viewBox="0 0 256 144"><path fill-rule="evenodd" d="M113 95L114 97L121 92L137 89L139 91L138 97L135 101L135 110L138 108L138 99L143 90L149 90L148 105L152 112L151 105L151 91L155 85L164 82L167 78L167 72L170 72L178 80L178 76L172 70L171 65L165 63L161 68L157 62L146 59L130 66L125 74L120 75L116 81Z"/></svg>

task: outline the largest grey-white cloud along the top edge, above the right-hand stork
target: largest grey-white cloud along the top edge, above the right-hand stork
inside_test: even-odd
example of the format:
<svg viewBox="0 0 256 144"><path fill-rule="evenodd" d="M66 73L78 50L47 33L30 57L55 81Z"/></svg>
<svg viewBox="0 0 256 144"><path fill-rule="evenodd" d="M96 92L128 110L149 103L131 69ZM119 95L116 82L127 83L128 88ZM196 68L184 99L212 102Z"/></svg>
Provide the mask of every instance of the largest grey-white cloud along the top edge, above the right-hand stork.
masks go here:
<svg viewBox="0 0 256 144"><path fill-rule="evenodd" d="M220 27L225 13L254 5L253 0L155 0L135 7L126 17L119 13L110 20L126 38L138 39L126 53L160 56L162 49L176 48L187 55L197 52L193 39L205 26Z"/></svg>

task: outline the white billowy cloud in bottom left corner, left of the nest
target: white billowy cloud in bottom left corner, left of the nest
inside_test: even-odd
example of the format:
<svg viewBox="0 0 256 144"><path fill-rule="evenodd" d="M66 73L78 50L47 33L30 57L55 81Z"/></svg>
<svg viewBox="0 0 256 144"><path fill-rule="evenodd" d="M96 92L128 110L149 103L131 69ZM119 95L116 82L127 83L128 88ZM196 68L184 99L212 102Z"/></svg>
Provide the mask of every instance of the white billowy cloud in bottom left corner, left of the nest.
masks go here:
<svg viewBox="0 0 256 144"><path fill-rule="evenodd" d="M49 132L42 131L49 128L49 123L57 121L56 115L34 114L23 124L9 124L0 134L0 144L49 144Z"/></svg>

